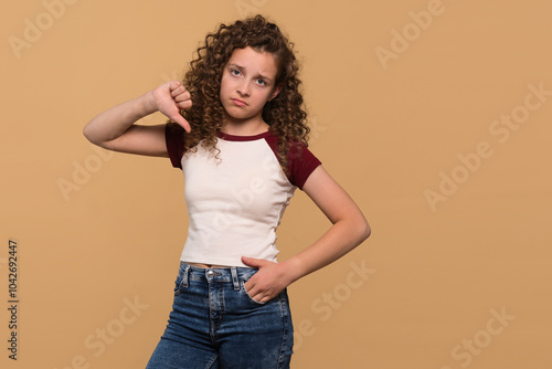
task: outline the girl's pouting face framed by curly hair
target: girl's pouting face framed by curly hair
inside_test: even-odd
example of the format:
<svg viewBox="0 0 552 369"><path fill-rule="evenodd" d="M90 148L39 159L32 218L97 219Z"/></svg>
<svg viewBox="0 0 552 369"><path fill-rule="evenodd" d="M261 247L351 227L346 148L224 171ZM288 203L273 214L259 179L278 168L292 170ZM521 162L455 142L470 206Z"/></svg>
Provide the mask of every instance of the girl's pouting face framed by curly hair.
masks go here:
<svg viewBox="0 0 552 369"><path fill-rule="evenodd" d="M278 70L267 52L236 49L222 73L221 103L226 123L261 123L266 102L276 97Z"/></svg>

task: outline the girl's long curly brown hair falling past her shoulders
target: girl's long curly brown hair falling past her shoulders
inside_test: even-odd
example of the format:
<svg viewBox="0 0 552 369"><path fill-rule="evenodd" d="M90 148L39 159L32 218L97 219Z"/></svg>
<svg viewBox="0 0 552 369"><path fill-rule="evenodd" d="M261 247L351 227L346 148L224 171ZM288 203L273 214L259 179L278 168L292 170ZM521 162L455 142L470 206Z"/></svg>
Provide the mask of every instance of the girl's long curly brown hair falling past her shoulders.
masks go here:
<svg viewBox="0 0 552 369"><path fill-rule="evenodd" d="M183 134L185 151L195 151L198 144L210 151L216 148L216 135L222 128L224 108L220 99L223 70L235 49L252 48L268 52L277 65L276 86L279 94L263 108L263 119L269 131L278 137L278 158L287 172L288 150L308 146L307 113L304 110L299 65L294 54L294 44L288 41L275 23L258 14L233 24L221 24L214 33L205 36L198 48L198 56L190 62L190 68L182 81L190 92L193 105L180 112L190 123L191 133ZM293 152L297 154L296 150ZM217 155L217 154L216 154Z"/></svg>

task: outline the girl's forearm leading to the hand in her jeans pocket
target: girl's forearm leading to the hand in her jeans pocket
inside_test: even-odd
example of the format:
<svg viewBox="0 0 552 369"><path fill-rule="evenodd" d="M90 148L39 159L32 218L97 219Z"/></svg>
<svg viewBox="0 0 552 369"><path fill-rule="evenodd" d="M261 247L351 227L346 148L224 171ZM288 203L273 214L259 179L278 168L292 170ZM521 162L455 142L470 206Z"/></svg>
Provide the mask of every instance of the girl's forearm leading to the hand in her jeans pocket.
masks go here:
<svg viewBox="0 0 552 369"><path fill-rule="evenodd" d="M282 263L293 283L343 256L370 235L362 219L338 221L312 245Z"/></svg>

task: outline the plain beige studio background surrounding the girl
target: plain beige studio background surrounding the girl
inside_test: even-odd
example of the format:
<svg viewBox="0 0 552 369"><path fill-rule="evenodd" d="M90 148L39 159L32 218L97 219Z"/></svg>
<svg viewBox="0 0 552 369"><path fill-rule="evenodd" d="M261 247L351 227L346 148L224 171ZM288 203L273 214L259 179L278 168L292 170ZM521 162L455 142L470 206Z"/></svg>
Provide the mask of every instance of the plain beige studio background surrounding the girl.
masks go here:
<svg viewBox="0 0 552 369"><path fill-rule="evenodd" d="M183 179L168 159L93 149L82 128L179 77L206 32L252 12L297 44L310 148L373 229L289 287L294 368L552 368L551 11L545 0L10 3L0 15L2 368L145 367L185 240ZM496 123L512 115L514 128ZM329 224L297 191L280 260Z"/></svg>

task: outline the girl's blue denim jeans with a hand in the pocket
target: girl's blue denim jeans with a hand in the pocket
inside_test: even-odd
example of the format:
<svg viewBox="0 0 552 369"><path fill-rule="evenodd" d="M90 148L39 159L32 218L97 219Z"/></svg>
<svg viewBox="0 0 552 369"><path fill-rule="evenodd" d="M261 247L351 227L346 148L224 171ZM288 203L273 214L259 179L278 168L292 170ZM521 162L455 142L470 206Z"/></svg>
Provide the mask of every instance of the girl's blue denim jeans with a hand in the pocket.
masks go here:
<svg viewBox="0 0 552 369"><path fill-rule="evenodd" d="M266 303L244 283L256 268L180 262L169 324L146 369L289 368L294 328L287 291Z"/></svg>

